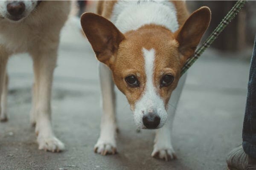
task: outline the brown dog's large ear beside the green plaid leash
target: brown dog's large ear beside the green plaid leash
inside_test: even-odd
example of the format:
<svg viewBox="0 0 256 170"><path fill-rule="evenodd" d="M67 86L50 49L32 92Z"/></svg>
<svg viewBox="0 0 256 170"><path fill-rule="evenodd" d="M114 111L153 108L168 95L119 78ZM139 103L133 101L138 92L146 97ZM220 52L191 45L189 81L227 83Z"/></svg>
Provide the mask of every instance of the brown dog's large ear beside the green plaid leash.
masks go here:
<svg viewBox="0 0 256 170"><path fill-rule="evenodd" d="M194 11L186 22L175 32L175 39L179 42L179 51L182 54L182 62L191 57L201 37L207 30L211 20L211 11L204 6Z"/></svg>

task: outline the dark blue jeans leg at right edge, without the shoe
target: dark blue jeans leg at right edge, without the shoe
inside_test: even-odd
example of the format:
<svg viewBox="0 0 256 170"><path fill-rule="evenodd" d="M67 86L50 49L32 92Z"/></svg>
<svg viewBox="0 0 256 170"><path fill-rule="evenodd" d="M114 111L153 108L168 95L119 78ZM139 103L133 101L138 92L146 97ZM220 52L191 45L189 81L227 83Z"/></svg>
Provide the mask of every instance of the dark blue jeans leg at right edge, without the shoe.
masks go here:
<svg viewBox="0 0 256 170"><path fill-rule="evenodd" d="M247 101L244 115L243 148L247 155L256 158L256 37L250 64Z"/></svg>

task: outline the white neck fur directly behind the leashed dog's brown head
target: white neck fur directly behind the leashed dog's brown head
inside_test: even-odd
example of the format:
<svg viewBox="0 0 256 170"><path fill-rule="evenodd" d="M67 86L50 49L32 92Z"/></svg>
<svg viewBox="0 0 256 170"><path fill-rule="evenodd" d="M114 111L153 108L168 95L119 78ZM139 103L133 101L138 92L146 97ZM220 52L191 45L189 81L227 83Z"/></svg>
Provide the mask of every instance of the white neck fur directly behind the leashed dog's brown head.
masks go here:
<svg viewBox="0 0 256 170"><path fill-rule="evenodd" d="M165 26L172 32L179 28L176 9L170 1L118 1L111 21L122 33L146 24Z"/></svg>

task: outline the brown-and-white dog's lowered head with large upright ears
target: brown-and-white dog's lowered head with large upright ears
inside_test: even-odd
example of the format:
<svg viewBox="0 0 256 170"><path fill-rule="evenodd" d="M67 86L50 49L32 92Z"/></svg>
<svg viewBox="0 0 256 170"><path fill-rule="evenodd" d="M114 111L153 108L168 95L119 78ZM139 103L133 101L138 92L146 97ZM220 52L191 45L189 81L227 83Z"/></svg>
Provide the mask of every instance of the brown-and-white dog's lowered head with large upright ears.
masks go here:
<svg viewBox="0 0 256 170"><path fill-rule="evenodd" d="M174 33L152 24L122 34L104 17L93 13L81 16L81 26L97 59L111 69L138 127L155 129L166 122L181 68L194 54L210 18L209 8L201 7Z"/></svg>

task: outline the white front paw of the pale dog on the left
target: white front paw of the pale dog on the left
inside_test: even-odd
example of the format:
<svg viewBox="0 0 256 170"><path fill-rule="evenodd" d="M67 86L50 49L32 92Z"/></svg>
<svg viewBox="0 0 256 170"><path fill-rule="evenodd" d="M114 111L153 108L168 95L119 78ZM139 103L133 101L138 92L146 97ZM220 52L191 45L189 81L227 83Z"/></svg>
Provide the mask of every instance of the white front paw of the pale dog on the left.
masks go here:
<svg viewBox="0 0 256 170"><path fill-rule="evenodd" d="M60 152L65 149L64 144L57 139L56 137L48 137L44 138L38 135L38 149L45 150L45 151L51 151L51 152Z"/></svg>

